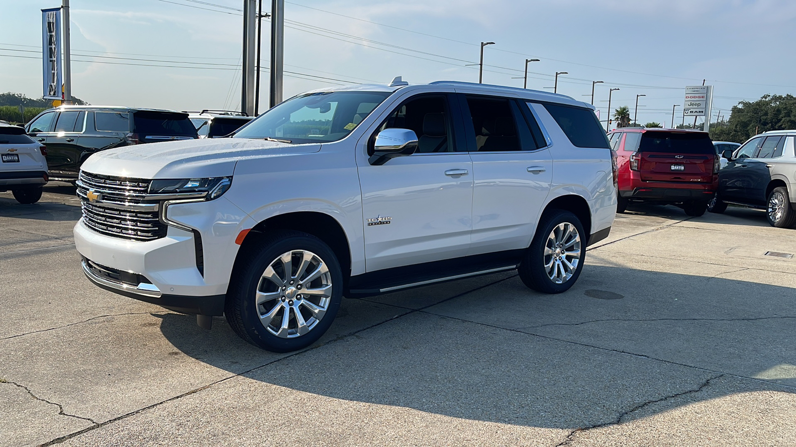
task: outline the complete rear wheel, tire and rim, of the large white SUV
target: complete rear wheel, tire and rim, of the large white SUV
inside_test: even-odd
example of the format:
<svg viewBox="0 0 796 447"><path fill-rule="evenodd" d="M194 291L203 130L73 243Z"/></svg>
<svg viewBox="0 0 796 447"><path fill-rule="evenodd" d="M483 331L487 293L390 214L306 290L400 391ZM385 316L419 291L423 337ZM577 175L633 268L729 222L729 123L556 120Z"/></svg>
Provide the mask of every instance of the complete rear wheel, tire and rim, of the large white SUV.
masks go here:
<svg viewBox="0 0 796 447"><path fill-rule="evenodd" d="M583 270L585 235L583 224L572 212L553 210L543 216L517 267L525 286L542 293L569 290Z"/></svg>

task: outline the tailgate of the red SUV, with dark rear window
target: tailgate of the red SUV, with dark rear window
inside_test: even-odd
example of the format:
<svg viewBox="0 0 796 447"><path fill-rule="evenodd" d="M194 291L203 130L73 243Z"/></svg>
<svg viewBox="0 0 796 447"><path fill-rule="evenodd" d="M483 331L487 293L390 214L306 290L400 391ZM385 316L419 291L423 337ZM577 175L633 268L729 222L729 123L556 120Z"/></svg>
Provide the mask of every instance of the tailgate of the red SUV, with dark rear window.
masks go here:
<svg viewBox="0 0 796 447"><path fill-rule="evenodd" d="M710 184L716 149L704 132L647 131L638 146L642 181Z"/></svg>

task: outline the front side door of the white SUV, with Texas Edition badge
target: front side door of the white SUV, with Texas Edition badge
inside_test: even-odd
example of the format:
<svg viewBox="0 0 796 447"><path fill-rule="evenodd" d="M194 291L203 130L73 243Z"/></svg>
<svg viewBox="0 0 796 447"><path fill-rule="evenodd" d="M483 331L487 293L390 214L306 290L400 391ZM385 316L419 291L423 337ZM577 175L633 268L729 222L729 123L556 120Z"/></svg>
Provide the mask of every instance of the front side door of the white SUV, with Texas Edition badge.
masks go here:
<svg viewBox="0 0 796 447"><path fill-rule="evenodd" d="M357 157L369 272L467 255L470 248L473 163L456 138L450 97L415 95L373 131L414 130L415 154L370 165Z"/></svg>

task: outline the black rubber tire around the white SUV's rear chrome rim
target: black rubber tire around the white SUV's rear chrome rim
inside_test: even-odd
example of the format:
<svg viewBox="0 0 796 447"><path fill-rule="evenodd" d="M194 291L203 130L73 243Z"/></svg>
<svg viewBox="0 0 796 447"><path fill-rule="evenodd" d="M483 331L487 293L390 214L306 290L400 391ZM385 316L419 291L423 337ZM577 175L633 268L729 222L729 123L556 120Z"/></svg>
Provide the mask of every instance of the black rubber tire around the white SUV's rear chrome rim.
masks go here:
<svg viewBox="0 0 796 447"><path fill-rule="evenodd" d="M577 258L578 262L575 266L575 271L571 272L571 276L565 279L563 282L554 282L551 278L551 275L548 274L552 271L553 274L556 273L556 253L554 252L552 255L544 255L545 248L548 247L550 237L552 236L552 231L554 228L559 227L561 224L566 225L567 223L571 224L572 227L575 228L577 231L577 236L579 237L579 257ZM568 240L566 239L564 242L567 243ZM572 214L572 212L554 209L542 216L539 226L537 227L537 234L533 236L533 242L531 242L531 246L528 247L528 250L525 251L525 255L520 262L520 266L517 267L517 272L520 274L520 279L525 286L533 290L537 290L537 292L542 293L562 293L569 290L573 284L578 280L580 276L580 271L583 270L583 262L586 259L586 244L587 244L587 235L583 231L583 224L580 223L580 220L577 216ZM574 248L575 246L572 246ZM553 244L553 248L555 244ZM545 267L545 262L550 260L550 270ZM564 258L565 262L572 261L574 258L568 257L567 255L561 256L560 258ZM571 262L570 262L571 263Z"/></svg>

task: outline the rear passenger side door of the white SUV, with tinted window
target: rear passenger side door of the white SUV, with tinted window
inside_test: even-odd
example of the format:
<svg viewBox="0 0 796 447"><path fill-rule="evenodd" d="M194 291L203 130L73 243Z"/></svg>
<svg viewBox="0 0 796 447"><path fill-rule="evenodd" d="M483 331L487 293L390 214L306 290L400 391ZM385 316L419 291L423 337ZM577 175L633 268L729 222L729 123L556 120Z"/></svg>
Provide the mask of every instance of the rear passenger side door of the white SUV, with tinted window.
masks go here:
<svg viewBox="0 0 796 447"><path fill-rule="evenodd" d="M528 247L550 192L548 142L527 104L457 96L473 160L472 253Z"/></svg>

